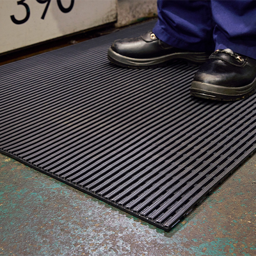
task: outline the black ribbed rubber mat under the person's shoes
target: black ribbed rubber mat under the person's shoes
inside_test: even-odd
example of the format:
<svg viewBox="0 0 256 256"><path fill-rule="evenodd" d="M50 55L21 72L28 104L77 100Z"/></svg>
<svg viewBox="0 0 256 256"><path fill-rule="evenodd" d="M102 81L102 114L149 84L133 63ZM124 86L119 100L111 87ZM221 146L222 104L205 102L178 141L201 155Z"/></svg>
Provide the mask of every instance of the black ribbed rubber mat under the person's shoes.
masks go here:
<svg viewBox="0 0 256 256"><path fill-rule="evenodd" d="M155 21L0 67L1 152L169 230L255 151L256 99L189 96L198 67L111 64ZM214 209L213 209L214 210Z"/></svg>

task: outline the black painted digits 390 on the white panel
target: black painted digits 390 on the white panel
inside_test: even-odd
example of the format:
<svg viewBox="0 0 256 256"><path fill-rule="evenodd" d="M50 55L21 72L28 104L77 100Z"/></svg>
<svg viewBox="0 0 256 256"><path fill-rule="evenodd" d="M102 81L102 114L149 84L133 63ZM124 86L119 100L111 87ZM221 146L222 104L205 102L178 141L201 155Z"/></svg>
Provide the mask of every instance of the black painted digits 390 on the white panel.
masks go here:
<svg viewBox="0 0 256 256"><path fill-rule="evenodd" d="M29 19L30 16L30 9L28 4L25 3L26 0L20 0L17 2L17 5L23 5L26 8L27 14L26 17L24 19L18 20L14 17L14 15L11 15L11 20L13 23L15 24L23 24L25 22L27 22L27 20ZM48 7L50 5L51 0L36 0L39 4L46 4L46 8L44 10L44 12L42 13L41 19L44 19L48 10ZM63 5L61 4L61 0L57 0L57 4L59 7L59 10L67 13L70 12L74 6L74 2L75 0L71 0L70 6L68 8L63 7Z"/></svg>

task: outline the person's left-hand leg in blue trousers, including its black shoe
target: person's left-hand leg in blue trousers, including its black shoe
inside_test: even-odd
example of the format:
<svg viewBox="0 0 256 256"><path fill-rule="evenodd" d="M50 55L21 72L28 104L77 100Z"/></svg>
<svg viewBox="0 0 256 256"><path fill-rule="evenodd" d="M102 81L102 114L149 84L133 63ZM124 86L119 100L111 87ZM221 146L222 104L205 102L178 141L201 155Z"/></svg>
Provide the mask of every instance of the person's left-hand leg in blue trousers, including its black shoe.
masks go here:
<svg viewBox="0 0 256 256"><path fill-rule="evenodd" d="M203 63L214 51L209 1L158 0L159 20L153 32L116 40L111 62L128 68L154 68L173 59Z"/></svg>

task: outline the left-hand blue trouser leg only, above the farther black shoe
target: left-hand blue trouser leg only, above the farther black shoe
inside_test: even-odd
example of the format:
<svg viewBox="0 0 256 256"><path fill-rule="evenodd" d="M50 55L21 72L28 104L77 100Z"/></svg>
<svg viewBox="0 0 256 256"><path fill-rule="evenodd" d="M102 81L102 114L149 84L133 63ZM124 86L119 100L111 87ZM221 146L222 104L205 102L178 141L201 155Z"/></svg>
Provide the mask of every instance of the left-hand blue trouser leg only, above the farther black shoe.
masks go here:
<svg viewBox="0 0 256 256"><path fill-rule="evenodd" d="M166 44L190 51L213 52L210 1L158 0L158 22L153 33Z"/></svg>

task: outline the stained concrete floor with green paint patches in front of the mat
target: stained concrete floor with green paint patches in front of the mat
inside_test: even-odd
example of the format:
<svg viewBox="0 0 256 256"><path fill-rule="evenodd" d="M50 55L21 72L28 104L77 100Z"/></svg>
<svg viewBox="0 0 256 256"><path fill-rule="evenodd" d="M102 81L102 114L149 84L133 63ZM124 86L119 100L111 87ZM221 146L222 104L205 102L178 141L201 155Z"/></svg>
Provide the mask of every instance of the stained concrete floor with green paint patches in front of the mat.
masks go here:
<svg viewBox="0 0 256 256"><path fill-rule="evenodd" d="M256 156L164 232L0 154L0 255L256 255Z"/></svg>

